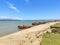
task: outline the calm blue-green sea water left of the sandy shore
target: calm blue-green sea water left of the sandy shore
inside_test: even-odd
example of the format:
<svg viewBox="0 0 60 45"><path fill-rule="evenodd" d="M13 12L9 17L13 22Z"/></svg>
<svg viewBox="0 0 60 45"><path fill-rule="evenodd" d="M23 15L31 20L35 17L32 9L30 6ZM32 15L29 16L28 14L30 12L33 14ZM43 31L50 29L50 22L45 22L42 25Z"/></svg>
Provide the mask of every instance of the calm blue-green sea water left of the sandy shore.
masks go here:
<svg viewBox="0 0 60 45"><path fill-rule="evenodd" d="M0 36L4 36L10 33L14 33L18 31L18 25L31 25L32 22L37 21L0 21Z"/></svg>

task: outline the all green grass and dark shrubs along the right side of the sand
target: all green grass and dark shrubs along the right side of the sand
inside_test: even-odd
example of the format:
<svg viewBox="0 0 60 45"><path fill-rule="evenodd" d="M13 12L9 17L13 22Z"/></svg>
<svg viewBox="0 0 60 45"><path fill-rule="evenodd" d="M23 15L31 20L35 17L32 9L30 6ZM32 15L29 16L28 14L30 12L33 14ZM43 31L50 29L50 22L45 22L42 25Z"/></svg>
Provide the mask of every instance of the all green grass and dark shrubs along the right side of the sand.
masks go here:
<svg viewBox="0 0 60 45"><path fill-rule="evenodd" d="M41 45L60 45L60 23L53 26L52 33L46 33L43 36Z"/></svg>

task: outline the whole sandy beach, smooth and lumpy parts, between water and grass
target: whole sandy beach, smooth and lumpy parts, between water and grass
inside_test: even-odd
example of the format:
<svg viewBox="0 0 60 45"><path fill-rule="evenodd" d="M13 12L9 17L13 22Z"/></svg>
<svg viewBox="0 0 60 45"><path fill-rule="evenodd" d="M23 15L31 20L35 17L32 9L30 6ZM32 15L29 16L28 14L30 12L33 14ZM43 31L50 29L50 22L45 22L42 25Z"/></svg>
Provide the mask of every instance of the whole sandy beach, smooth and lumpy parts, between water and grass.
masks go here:
<svg viewBox="0 0 60 45"><path fill-rule="evenodd" d="M50 22L38 26L34 26L29 29L25 29L7 36L0 37L0 45L38 45L38 41L40 41L43 30L49 28L51 25L54 25L58 22ZM38 38L40 35L40 38ZM37 37L37 38L36 38ZM33 41L34 42L33 42ZM33 43L32 43L33 42ZM38 44L36 44L36 42Z"/></svg>

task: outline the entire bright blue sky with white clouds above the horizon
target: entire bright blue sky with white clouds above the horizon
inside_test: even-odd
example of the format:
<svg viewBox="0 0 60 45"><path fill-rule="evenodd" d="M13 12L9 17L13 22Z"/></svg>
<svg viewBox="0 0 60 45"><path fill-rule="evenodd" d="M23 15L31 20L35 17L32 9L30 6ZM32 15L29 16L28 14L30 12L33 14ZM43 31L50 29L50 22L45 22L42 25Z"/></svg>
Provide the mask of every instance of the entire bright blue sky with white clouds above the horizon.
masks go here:
<svg viewBox="0 0 60 45"><path fill-rule="evenodd" d="M0 19L60 19L60 0L0 0Z"/></svg>

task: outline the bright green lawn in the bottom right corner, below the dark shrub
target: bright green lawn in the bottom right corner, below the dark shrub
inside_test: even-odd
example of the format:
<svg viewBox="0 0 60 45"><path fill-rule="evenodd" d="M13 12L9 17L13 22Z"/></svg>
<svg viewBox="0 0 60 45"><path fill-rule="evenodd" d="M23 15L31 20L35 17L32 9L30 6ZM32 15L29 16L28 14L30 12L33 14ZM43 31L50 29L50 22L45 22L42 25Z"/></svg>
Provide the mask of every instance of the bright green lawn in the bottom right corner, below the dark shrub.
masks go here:
<svg viewBox="0 0 60 45"><path fill-rule="evenodd" d="M60 34L45 34L41 45L60 45Z"/></svg>

